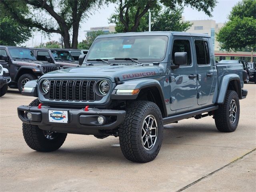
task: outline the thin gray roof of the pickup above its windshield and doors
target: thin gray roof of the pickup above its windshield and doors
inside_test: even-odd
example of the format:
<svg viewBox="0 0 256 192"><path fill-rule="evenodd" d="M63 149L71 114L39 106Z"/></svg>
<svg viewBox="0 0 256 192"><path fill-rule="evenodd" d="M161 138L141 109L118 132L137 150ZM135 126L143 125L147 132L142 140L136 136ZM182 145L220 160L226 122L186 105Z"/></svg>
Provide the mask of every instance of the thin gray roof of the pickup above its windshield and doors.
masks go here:
<svg viewBox="0 0 256 192"><path fill-rule="evenodd" d="M188 32L177 32L177 31L146 31L146 32L127 32L127 33L114 33L114 34L103 34L98 36L98 38L104 38L104 37L121 37L121 36L160 36L160 35L166 35L166 36L195 36L195 37L206 37L210 38L207 34L202 33L188 33Z"/></svg>

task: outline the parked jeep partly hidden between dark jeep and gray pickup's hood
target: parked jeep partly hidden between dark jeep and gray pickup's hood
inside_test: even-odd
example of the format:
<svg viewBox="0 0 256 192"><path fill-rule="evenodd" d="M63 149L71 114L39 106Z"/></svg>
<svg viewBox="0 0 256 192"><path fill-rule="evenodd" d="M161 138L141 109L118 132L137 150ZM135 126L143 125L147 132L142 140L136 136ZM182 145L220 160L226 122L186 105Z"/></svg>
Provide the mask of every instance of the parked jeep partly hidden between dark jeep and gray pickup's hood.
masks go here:
<svg viewBox="0 0 256 192"><path fill-rule="evenodd" d="M62 68L79 67L78 62L67 50L64 49L47 49L47 48L30 48L38 60L48 60L51 63L58 64Z"/></svg>

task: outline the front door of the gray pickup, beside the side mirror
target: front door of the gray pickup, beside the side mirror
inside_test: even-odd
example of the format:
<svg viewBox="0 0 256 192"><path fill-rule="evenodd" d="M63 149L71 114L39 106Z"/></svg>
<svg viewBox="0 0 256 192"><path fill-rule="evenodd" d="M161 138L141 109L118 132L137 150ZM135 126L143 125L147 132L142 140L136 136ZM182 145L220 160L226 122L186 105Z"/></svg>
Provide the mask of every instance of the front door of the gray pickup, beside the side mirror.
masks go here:
<svg viewBox="0 0 256 192"><path fill-rule="evenodd" d="M171 65L175 64L175 52L187 52L187 64L171 70L170 108L182 112L187 108L196 108L196 67L192 60L191 37L175 37L172 41ZM173 63L173 64L172 64Z"/></svg>

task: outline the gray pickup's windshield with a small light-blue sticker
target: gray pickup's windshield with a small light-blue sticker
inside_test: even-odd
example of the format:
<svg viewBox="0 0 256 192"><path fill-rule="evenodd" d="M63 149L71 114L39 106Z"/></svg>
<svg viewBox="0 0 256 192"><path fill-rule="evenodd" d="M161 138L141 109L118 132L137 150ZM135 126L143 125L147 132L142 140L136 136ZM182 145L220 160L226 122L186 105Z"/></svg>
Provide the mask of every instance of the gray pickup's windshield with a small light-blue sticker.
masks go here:
<svg viewBox="0 0 256 192"><path fill-rule="evenodd" d="M166 54L167 36L126 36L98 38L86 60L137 58L139 61L162 61Z"/></svg>

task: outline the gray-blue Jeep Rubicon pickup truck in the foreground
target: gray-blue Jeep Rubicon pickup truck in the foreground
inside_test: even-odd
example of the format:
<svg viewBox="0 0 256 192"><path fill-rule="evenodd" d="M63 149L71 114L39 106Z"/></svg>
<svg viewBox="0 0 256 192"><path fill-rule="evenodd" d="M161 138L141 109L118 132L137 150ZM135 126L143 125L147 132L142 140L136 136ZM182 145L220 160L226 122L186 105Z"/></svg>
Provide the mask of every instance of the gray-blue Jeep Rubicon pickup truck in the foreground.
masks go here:
<svg viewBox="0 0 256 192"><path fill-rule="evenodd" d="M213 116L220 132L238 126L246 74L242 64L216 65L206 34L102 35L79 61L80 68L25 85L22 94L38 97L18 107L33 150L57 150L67 133L119 136L128 160L149 162L158 155L165 124Z"/></svg>

